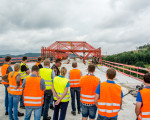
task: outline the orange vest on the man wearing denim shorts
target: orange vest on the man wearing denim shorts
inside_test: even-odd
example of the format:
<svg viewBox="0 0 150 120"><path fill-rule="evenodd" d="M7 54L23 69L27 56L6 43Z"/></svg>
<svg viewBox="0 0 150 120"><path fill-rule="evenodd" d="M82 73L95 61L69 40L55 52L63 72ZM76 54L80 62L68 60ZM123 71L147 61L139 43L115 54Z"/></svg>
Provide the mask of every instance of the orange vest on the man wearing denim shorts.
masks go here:
<svg viewBox="0 0 150 120"><path fill-rule="evenodd" d="M95 91L99 85L99 78L94 75L85 75L80 79L80 100L85 104L95 104Z"/></svg>

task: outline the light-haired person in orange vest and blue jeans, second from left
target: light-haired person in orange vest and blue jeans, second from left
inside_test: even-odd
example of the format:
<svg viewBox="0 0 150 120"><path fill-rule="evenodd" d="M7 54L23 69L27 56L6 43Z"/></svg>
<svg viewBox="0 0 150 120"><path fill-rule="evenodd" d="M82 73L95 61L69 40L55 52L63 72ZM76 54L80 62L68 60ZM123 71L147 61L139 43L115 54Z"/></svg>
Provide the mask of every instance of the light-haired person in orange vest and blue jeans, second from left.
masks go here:
<svg viewBox="0 0 150 120"><path fill-rule="evenodd" d="M22 81L21 76L18 73L20 70L20 64L16 63L14 65L14 71L10 72L3 76L3 80L9 83L8 90L8 98L9 98L9 119L10 120L18 120L18 116L24 116L24 113L18 112L18 104L20 100L20 95L22 95ZM12 115L13 108L13 115Z"/></svg>

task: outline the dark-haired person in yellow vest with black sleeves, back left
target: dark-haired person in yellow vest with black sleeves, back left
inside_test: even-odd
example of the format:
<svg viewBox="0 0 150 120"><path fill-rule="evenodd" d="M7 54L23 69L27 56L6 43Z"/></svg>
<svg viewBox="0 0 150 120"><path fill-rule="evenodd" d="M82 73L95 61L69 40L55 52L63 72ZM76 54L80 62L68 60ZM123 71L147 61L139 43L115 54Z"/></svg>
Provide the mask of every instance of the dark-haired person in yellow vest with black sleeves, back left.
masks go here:
<svg viewBox="0 0 150 120"><path fill-rule="evenodd" d="M22 57L22 62L20 65L20 70L19 70L22 83L23 83L23 80L25 78L27 78L30 74L30 70L29 70L28 66L26 65L27 61L28 61L28 58L26 56ZM21 97L20 97L20 108L25 109L24 102L23 102L23 95L21 95Z"/></svg>

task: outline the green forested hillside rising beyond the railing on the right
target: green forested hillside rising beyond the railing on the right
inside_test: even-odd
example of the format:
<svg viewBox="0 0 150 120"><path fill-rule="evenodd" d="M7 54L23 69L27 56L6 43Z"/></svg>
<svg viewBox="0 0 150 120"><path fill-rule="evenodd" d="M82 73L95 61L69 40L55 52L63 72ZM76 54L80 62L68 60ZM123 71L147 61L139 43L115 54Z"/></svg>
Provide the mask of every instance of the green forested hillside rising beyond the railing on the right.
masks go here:
<svg viewBox="0 0 150 120"><path fill-rule="evenodd" d="M134 51L103 57L103 59L139 67L148 67L150 64L150 44L139 46Z"/></svg>

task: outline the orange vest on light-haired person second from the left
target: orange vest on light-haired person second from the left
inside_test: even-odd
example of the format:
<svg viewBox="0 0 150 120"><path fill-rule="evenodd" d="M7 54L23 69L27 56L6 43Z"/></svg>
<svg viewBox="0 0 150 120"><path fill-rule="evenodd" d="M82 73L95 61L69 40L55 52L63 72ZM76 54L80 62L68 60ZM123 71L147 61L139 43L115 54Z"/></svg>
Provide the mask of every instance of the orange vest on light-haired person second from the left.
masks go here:
<svg viewBox="0 0 150 120"><path fill-rule="evenodd" d="M8 93L12 95L22 95L22 81L20 78L20 86L16 89L17 84L16 84L16 76L19 74L18 72L15 72L13 77L11 77L12 72L8 74L8 80L9 80L9 87L7 88Z"/></svg>

